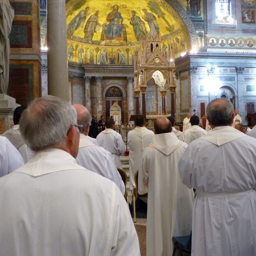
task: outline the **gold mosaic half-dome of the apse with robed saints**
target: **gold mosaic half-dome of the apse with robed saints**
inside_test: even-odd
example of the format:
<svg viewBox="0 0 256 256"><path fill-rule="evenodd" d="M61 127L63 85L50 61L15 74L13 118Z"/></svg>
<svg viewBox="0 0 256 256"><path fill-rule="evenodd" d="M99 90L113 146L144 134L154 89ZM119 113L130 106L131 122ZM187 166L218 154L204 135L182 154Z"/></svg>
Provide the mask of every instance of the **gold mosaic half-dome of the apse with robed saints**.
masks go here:
<svg viewBox="0 0 256 256"><path fill-rule="evenodd" d="M80 64L133 64L150 30L175 56L190 49L183 21L164 0L67 0L68 60Z"/></svg>

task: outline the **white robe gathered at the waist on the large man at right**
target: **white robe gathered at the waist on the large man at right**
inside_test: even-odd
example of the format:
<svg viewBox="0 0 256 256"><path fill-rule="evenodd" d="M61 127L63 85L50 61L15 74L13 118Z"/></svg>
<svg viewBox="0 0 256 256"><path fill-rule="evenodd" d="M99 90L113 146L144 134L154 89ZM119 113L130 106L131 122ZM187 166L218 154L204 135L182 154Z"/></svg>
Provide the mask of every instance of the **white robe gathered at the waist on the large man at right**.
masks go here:
<svg viewBox="0 0 256 256"><path fill-rule="evenodd" d="M192 256L256 255L256 139L220 126L189 144L179 161L195 188Z"/></svg>

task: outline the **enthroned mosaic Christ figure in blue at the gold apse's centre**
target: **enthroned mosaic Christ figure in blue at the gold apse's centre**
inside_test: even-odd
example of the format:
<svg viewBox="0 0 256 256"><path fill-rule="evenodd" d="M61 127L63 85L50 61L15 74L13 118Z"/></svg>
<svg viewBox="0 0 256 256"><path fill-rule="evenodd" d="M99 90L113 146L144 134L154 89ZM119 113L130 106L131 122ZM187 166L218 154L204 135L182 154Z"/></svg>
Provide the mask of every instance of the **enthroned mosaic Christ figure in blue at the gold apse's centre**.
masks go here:
<svg viewBox="0 0 256 256"><path fill-rule="evenodd" d="M123 18L120 12L118 12L119 6L113 5L113 11L108 14L107 26L104 27L105 37L107 40L121 40L122 22Z"/></svg>

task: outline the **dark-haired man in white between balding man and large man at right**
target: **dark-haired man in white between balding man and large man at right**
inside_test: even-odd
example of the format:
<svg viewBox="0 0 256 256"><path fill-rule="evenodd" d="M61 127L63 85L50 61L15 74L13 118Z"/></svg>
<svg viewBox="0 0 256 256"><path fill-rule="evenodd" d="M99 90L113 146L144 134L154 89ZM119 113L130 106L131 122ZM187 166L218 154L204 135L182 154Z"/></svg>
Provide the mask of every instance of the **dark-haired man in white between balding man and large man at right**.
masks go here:
<svg viewBox="0 0 256 256"><path fill-rule="evenodd" d="M203 128L201 128L199 125L199 117L198 116L191 116L190 117L190 123L191 128L187 129L186 131L183 131L184 136L184 142L187 144L191 143L193 140L196 140L200 138L201 136L207 134L207 131L205 131Z"/></svg>

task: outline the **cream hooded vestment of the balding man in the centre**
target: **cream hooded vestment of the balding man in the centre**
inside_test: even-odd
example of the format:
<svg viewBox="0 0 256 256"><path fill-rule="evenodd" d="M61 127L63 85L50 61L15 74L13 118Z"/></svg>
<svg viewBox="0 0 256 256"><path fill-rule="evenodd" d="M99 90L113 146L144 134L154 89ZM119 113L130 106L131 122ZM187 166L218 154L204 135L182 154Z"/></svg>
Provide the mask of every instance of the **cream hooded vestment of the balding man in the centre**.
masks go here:
<svg viewBox="0 0 256 256"><path fill-rule="evenodd" d="M138 192L148 192L147 256L170 256L173 236L192 228L193 191L181 183L178 160L187 147L175 134L156 134L141 157Z"/></svg>

